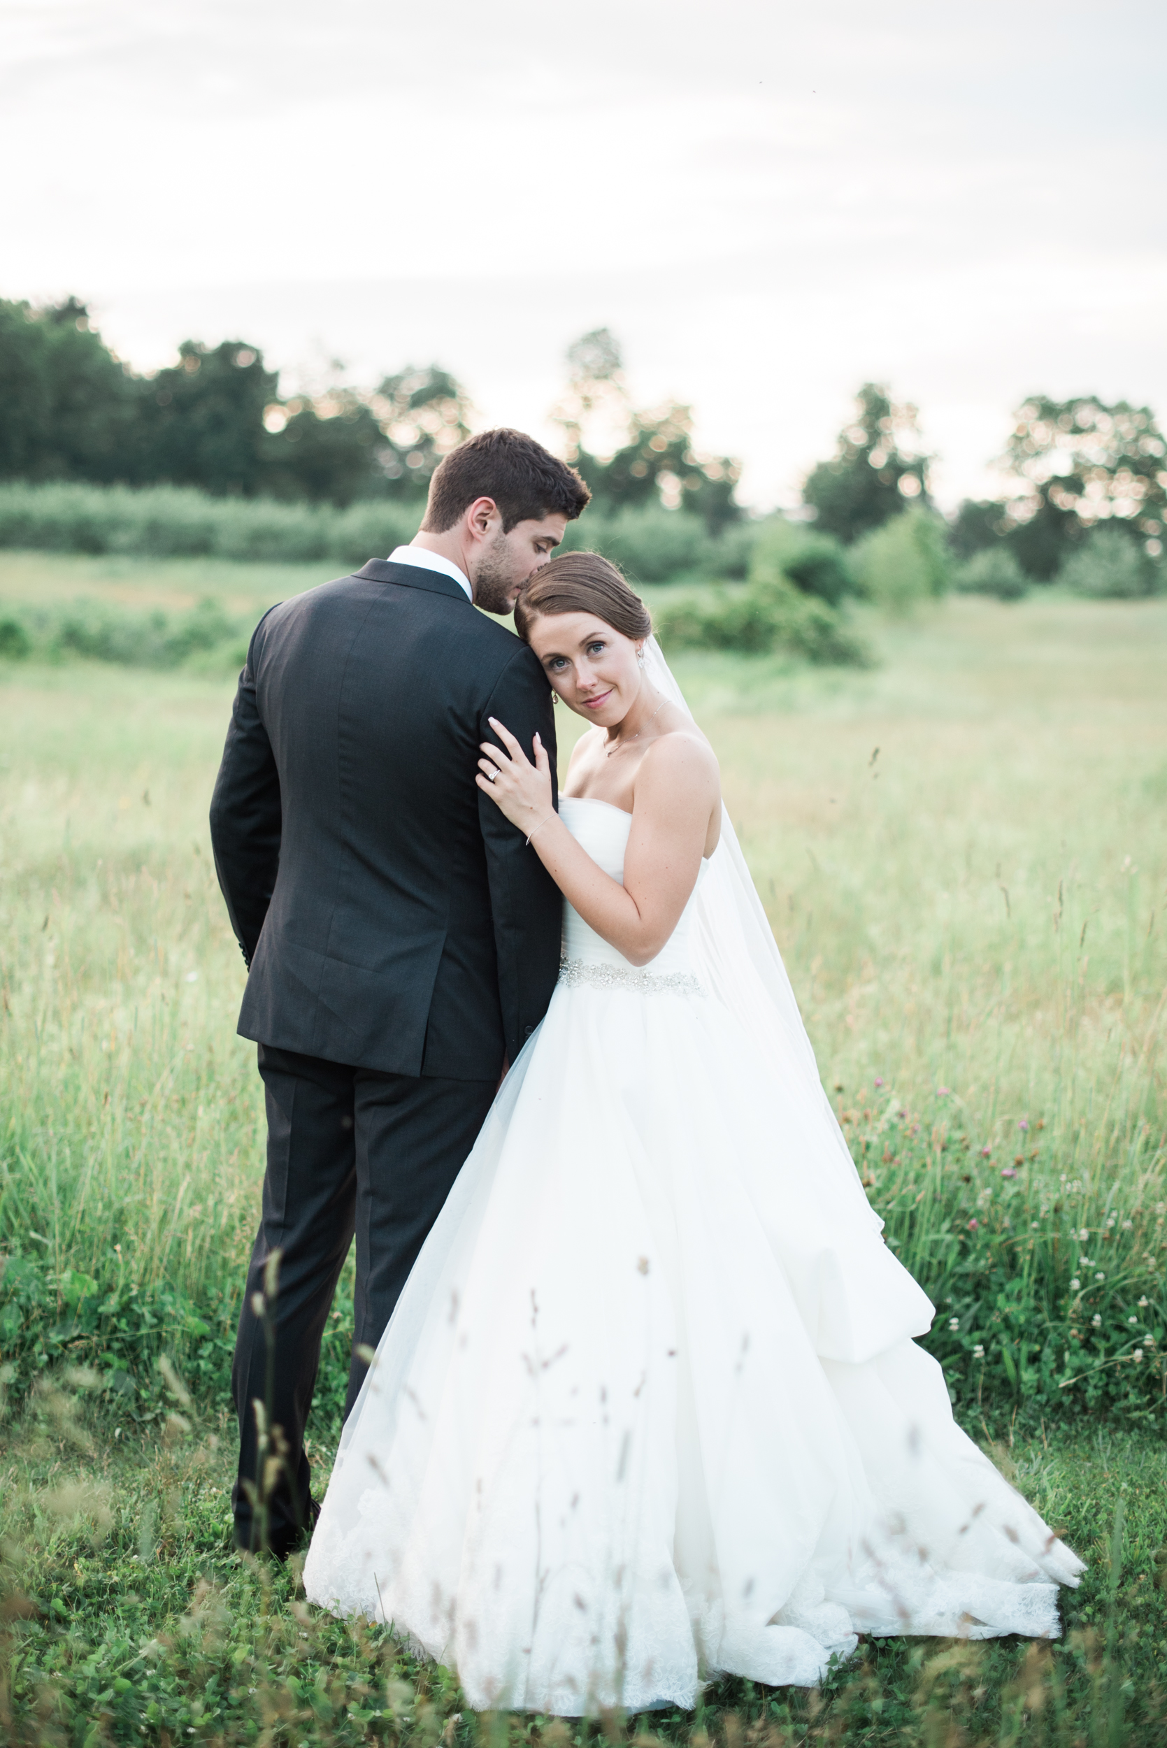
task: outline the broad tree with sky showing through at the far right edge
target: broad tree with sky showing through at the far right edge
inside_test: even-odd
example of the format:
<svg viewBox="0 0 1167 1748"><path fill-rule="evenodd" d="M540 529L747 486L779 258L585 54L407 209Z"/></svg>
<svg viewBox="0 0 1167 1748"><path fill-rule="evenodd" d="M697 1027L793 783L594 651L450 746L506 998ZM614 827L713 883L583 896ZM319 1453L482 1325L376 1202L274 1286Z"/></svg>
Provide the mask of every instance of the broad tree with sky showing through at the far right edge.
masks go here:
<svg viewBox="0 0 1167 1748"><path fill-rule="evenodd" d="M1031 395L1001 458L1006 535L1024 570L1041 580L1057 575L1101 523L1122 528L1158 558L1167 521L1165 458L1167 442L1150 407L1097 395Z"/></svg>

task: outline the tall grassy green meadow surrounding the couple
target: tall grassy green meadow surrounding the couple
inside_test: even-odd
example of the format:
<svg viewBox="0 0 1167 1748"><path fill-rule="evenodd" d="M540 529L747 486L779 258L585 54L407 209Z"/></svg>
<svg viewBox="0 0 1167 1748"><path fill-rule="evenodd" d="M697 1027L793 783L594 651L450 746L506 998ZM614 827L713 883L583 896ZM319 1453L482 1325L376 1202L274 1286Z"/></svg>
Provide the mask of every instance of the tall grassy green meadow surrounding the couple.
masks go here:
<svg viewBox="0 0 1167 1748"><path fill-rule="evenodd" d="M246 619L330 570L3 552L0 617ZM262 1175L206 836L234 680L222 650L0 661L3 1739L1167 1741L1167 601L966 596L863 635L868 669L676 669L957 1414L1090 1563L1067 1638L867 1645L814 1696L720 1683L639 1725L475 1720L234 1556ZM348 1330L341 1294L323 1474Z"/></svg>

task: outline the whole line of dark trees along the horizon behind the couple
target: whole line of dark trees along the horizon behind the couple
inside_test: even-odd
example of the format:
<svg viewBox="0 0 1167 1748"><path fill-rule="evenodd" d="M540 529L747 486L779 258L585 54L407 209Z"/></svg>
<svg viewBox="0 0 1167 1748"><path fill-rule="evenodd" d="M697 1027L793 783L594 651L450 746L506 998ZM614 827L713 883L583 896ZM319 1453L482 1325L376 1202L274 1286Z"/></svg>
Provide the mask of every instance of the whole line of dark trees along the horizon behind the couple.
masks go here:
<svg viewBox="0 0 1167 1748"><path fill-rule="evenodd" d="M86 304L0 301L0 479L196 486L217 496L346 507L421 503L442 456L470 435L470 400L440 365L376 388L280 395L246 341L185 339L178 358L138 374L105 344ZM741 463L694 447L692 409L638 407L608 329L568 350L552 418L604 516L653 507L699 516L720 535L744 512ZM1167 444L1150 407L1095 395L1027 397L998 458L1001 491L964 500L947 523L956 559L980 561L991 593L1046 582L1094 531L1130 542L1122 561L1158 572L1167 521ZM844 547L905 512L931 514L915 407L865 383L835 453L802 488L802 517ZM1150 572L1148 572L1150 575Z"/></svg>

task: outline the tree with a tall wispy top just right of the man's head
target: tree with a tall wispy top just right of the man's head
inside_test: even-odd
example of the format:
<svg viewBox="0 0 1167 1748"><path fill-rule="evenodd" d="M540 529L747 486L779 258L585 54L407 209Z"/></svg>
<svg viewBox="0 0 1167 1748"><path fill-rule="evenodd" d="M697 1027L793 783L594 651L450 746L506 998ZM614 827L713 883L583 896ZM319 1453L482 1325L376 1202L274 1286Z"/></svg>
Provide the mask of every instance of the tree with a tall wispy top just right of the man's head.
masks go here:
<svg viewBox="0 0 1167 1748"><path fill-rule="evenodd" d="M741 516L734 496L741 463L695 453L692 409L681 402L632 406L610 329L594 329L575 341L568 367L568 393L554 418L568 439L568 460L589 482L599 510L617 514L664 503L701 516L711 535Z"/></svg>

